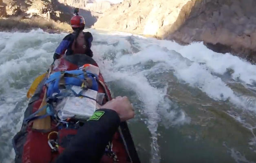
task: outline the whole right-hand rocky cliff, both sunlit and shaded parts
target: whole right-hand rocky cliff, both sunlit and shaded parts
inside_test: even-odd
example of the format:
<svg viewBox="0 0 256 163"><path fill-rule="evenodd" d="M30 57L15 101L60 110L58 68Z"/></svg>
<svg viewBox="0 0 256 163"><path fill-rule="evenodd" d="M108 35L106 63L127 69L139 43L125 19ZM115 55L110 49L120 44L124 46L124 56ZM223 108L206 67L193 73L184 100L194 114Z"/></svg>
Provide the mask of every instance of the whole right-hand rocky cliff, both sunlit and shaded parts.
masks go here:
<svg viewBox="0 0 256 163"><path fill-rule="evenodd" d="M203 41L214 51L256 61L255 6L254 0L125 0L105 12L93 28L185 44Z"/></svg>

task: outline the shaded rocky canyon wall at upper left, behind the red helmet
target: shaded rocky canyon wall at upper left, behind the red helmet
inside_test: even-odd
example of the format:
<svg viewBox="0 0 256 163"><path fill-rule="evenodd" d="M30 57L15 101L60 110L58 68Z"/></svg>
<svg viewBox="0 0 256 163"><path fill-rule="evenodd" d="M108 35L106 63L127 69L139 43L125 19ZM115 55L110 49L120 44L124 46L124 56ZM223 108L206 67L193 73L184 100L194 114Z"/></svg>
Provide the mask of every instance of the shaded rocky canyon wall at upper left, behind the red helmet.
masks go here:
<svg viewBox="0 0 256 163"><path fill-rule="evenodd" d="M40 16L46 20L69 23L74 16L73 11L74 7L57 0L0 0L0 17ZM93 16L90 11L81 9L79 13L86 17L87 27L92 26L97 20L97 17Z"/></svg>

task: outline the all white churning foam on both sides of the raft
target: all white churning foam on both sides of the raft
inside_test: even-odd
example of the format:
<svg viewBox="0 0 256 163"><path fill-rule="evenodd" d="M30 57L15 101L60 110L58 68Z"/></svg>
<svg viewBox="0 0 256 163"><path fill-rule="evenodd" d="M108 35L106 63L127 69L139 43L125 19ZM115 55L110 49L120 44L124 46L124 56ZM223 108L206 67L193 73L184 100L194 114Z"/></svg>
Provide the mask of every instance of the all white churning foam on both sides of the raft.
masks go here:
<svg viewBox="0 0 256 163"><path fill-rule="evenodd" d="M232 77L246 84L256 80L255 66L230 54L218 54L205 48L202 43L181 46L175 42L145 39L124 33L97 34L94 36L92 50L106 81L121 81L123 86L133 90L144 104L141 113L147 117L147 126L152 134L152 162L160 161L157 145L157 128L161 119L167 126L189 123L190 118L183 110L171 110L172 102L166 98L167 82L164 88L156 88L148 75L161 71L174 73L180 82L199 88L215 100L229 99L233 104L245 109L255 110L255 103L248 103L245 97L238 97L220 77L212 73L224 74L232 68ZM0 128L9 129L17 125L13 119L22 120L25 109L26 88L39 74L44 73L51 64L55 48L66 34L49 34L42 30L30 33L0 32L0 95L5 100L1 104ZM127 39L129 37L129 39ZM4 40L4 41L3 41ZM104 44L96 44L104 42ZM137 48L139 52L135 52ZM175 51L171 51L175 50ZM125 51L125 53L123 52ZM180 53L180 54L179 54ZM154 66L144 70L143 66L153 61ZM200 64L201 62L205 64ZM25 83L24 86L18 86ZM17 96L19 95L19 96ZM17 96L17 98L13 98ZM13 98L13 99L12 99ZM249 97L248 97L249 98ZM1 102L1 101L0 101ZM15 108L18 102L23 108ZM13 111L16 111L14 114ZM7 118L8 117L8 118ZM11 130L12 137L20 128ZM11 139L10 139L11 140ZM11 143L9 143L11 146ZM10 147L9 147L10 149ZM10 151L11 152L11 151Z"/></svg>

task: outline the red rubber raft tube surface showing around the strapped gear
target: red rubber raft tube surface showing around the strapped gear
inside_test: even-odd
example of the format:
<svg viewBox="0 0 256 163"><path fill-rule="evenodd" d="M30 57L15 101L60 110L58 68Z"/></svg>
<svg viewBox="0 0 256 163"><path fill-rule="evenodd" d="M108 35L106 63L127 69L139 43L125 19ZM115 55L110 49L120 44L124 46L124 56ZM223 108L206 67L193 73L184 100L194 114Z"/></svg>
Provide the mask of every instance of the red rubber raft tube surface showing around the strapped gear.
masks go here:
<svg viewBox="0 0 256 163"><path fill-rule="evenodd" d="M85 64L97 66L97 63L86 55L76 54L62 57L59 64L53 69L53 73L63 70L77 70ZM47 76L47 75L46 75ZM41 81L33 97L31 97L28 107L24 112L24 118L36 112L44 99L46 86ZM105 93L103 104L111 100L110 91L105 85L102 74L98 76L98 93ZM13 137L13 148L15 150L15 163L51 163L64 150L52 145L50 141L62 137L71 137L76 134L77 129L60 128L56 121L51 120L50 129L38 130L33 128L33 121L22 123L21 130ZM79 125L80 122L79 122ZM58 141L60 142L60 140ZM112 146L110 148L109 146ZM115 133L112 142L106 147L106 154L101 159L101 163L140 163L135 145L133 143L129 128L126 122L122 122L119 130Z"/></svg>

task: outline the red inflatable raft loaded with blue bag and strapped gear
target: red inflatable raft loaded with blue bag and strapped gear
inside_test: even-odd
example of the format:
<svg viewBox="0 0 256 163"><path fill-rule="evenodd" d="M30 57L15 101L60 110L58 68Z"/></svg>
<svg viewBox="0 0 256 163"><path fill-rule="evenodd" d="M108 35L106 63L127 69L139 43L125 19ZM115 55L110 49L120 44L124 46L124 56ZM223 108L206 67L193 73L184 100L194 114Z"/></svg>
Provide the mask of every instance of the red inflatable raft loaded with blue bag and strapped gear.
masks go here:
<svg viewBox="0 0 256 163"><path fill-rule="evenodd" d="M76 134L77 128L86 123L86 119L99 105L112 99L102 74L100 72L95 74L95 72L83 69L84 65L98 67L92 58L76 54L62 57L55 62L54 68L49 72L51 75L44 77L31 97L24 112L22 128L13 138L15 163L53 162ZM84 82L84 74L81 74L81 70L86 72L90 83ZM70 81L66 80L68 77L70 77ZM57 81L57 79L59 80ZM77 88L83 90L81 86L75 86L76 84L72 86L72 83L77 82L82 82L85 88L86 84L89 84L92 89L87 88L86 93L90 92L90 95L82 95L80 90L77 92L75 90ZM63 93L63 90L72 91ZM75 92L79 94L79 97ZM56 94L63 96L62 98L56 97ZM56 101L56 99L58 100ZM72 103L74 99L76 101ZM88 112L79 110L79 100L80 103L81 100L87 102L82 105L88 106ZM70 107L71 104L77 106ZM73 108L73 110L68 110L68 108ZM64 141L65 143L63 143ZM106 146L101 163L140 163L126 122L121 123L113 140Z"/></svg>

